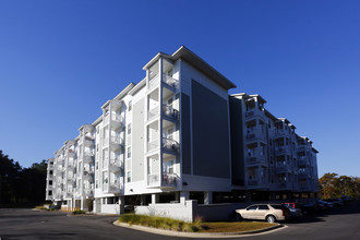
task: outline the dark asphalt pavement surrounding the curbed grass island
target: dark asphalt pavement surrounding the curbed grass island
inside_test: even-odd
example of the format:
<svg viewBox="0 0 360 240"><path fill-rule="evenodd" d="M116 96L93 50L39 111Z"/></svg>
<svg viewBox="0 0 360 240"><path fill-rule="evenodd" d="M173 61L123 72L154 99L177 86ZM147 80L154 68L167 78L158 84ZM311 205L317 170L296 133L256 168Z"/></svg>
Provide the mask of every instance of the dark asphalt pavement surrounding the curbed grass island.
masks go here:
<svg viewBox="0 0 360 240"><path fill-rule="evenodd" d="M0 209L0 238L8 239L175 239L113 226L117 216L68 216L61 212ZM285 223L287 227L250 239L360 239L360 202Z"/></svg>

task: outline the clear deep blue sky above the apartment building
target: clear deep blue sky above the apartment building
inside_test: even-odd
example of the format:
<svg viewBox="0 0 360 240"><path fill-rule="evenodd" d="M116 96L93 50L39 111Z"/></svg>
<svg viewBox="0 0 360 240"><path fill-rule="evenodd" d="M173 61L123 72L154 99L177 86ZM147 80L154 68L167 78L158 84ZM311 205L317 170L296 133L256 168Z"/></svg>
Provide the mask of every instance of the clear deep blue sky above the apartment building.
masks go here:
<svg viewBox="0 0 360 240"><path fill-rule="evenodd" d="M185 45L360 176L360 1L0 0L0 149L53 156L158 51Z"/></svg>

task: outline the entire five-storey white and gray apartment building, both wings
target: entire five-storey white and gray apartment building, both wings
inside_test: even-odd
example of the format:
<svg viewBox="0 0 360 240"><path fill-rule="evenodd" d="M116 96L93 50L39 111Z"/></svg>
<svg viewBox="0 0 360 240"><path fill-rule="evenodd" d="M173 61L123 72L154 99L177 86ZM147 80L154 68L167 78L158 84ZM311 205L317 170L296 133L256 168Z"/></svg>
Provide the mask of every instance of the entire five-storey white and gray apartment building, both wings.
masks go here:
<svg viewBox="0 0 360 240"><path fill-rule="evenodd" d="M151 206L191 220L193 200L316 192L317 152L261 96L229 96L236 85L184 46L143 70L48 160L47 200L94 213Z"/></svg>

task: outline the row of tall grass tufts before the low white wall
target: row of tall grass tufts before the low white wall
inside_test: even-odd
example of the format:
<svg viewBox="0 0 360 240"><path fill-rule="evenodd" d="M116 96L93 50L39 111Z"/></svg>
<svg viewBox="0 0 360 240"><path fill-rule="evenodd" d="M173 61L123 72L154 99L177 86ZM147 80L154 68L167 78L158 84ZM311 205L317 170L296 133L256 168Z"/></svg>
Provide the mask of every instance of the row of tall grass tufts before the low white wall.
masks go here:
<svg viewBox="0 0 360 240"><path fill-rule="evenodd" d="M127 223L130 225L141 225L145 227L161 228L167 230L176 231L199 231L199 223L187 223L183 220L176 220L168 217L157 217L147 215L136 215L136 214L123 214L119 217L120 223Z"/></svg>

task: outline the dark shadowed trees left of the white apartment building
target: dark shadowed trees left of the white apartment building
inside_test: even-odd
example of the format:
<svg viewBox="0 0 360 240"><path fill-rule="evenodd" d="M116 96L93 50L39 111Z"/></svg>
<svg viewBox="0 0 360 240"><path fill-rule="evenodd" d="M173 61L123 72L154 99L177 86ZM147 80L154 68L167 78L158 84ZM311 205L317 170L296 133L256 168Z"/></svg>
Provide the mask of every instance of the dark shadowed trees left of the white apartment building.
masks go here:
<svg viewBox="0 0 360 240"><path fill-rule="evenodd" d="M47 161L22 168L0 151L0 207L34 206L45 202Z"/></svg>

